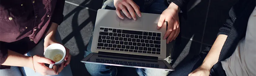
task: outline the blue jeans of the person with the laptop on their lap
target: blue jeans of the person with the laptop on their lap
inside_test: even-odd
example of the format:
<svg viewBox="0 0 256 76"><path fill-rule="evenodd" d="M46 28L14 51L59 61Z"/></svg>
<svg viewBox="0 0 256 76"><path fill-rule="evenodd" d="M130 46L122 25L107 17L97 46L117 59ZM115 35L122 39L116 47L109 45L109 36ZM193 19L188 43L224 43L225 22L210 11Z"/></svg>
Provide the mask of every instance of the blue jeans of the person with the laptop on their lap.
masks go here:
<svg viewBox="0 0 256 76"><path fill-rule="evenodd" d="M161 14L167 6L164 5L164 0L148 0L148 2L144 2L144 0L135 0L134 1L138 6L140 6L140 10L143 13L155 13L155 14ZM113 0L107 0L103 6L102 9L113 9L115 10L114 1ZM93 33L93 32L92 32ZM172 49L173 47L173 41L169 48ZM90 38L90 41L88 43L87 51L85 51L84 57L89 55L91 53L91 46L92 46L92 36ZM167 54L170 51L167 52ZM171 63L170 55L165 59L168 63ZM85 64L86 69L92 76L116 76L117 69L115 66L109 66L109 65L101 65L101 64L92 64L92 63L86 63ZM155 70L155 69L142 69L142 68L136 68L137 74L140 76L166 76L169 71L167 70Z"/></svg>

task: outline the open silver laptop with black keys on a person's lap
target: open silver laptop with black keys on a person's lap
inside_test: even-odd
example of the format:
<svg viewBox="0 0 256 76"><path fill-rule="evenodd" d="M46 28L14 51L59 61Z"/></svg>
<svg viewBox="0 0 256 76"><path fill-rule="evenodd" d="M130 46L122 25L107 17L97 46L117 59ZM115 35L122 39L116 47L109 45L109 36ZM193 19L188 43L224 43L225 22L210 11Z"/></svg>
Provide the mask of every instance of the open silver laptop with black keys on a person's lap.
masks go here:
<svg viewBox="0 0 256 76"><path fill-rule="evenodd" d="M115 10L98 9L91 51L81 62L145 69L174 70L167 63L166 26L156 29L160 14L120 19Z"/></svg>

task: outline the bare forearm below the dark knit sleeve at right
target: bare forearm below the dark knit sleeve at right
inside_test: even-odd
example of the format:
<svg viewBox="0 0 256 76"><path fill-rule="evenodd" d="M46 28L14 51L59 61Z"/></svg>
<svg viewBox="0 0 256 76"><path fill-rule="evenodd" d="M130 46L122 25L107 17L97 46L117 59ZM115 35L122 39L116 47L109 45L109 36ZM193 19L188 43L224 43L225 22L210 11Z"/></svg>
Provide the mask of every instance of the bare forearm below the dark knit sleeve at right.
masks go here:
<svg viewBox="0 0 256 76"><path fill-rule="evenodd" d="M205 57L201 66L211 69L213 67L213 65L218 62L221 49L222 49L226 39L227 39L227 35L218 35L212 48L210 49L209 53Z"/></svg>

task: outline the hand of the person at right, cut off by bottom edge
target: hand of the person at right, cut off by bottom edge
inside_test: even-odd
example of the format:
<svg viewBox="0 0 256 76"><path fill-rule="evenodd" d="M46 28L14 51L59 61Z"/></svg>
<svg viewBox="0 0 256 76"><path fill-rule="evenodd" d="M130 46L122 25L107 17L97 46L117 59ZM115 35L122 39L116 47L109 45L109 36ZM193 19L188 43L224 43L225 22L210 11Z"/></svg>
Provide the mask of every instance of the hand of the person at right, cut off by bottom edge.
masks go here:
<svg viewBox="0 0 256 76"><path fill-rule="evenodd" d="M207 69L204 66L199 66L190 74L188 74L188 76L209 76L209 75L210 75L210 69Z"/></svg>

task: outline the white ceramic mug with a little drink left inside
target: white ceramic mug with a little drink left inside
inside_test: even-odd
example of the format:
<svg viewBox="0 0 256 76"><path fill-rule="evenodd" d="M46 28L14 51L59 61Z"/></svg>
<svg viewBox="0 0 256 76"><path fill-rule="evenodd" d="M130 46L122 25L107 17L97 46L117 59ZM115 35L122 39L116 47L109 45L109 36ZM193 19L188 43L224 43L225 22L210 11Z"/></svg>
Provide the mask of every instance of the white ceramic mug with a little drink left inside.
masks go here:
<svg viewBox="0 0 256 76"><path fill-rule="evenodd" d="M56 55L62 56L61 60L55 62L55 64L50 64L49 68L52 68L53 65L60 65L62 62L65 61L64 58L66 55L66 49L61 44L51 44L45 49L43 55L45 58L51 59L53 61L54 61L54 56Z"/></svg>

